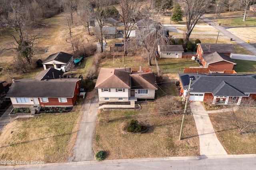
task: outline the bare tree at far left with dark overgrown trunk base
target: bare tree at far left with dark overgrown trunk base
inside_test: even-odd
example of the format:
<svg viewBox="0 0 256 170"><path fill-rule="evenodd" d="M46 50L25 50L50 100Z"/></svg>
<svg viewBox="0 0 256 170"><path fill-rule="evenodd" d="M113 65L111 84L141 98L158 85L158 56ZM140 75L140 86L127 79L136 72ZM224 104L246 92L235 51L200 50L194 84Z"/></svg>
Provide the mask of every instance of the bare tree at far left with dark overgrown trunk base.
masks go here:
<svg viewBox="0 0 256 170"><path fill-rule="evenodd" d="M29 20L28 10L25 6L20 4L10 4L12 12L8 16L8 28L5 29L9 36L14 40L6 45L7 47L1 50L15 50L17 51L18 60L23 62L26 61L31 64L32 57L34 55L34 45L35 41L42 38L40 33L33 34L33 22ZM16 36L18 35L18 36Z"/></svg>

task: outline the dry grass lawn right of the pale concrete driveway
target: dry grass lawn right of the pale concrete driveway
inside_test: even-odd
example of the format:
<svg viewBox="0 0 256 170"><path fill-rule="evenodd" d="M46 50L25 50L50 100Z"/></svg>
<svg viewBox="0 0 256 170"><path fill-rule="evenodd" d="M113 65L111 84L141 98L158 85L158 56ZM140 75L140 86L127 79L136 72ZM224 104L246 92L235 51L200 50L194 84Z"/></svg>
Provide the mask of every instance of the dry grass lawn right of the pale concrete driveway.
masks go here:
<svg viewBox="0 0 256 170"><path fill-rule="evenodd" d="M228 154L255 154L256 135L253 133L238 134L238 129L230 125L228 119L221 119L224 113L209 114L212 126L220 143Z"/></svg>

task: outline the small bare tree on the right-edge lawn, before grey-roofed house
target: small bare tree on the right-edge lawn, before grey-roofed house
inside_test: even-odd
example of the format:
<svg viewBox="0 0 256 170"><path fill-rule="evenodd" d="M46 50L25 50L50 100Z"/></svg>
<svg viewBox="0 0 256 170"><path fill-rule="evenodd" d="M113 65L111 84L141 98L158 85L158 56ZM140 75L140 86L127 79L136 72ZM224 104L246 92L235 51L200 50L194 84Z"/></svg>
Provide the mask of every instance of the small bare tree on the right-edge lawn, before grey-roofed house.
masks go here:
<svg viewBox="0 0 256 170"><path fill-rule="evenodd" d="M256 102L254 99L243 100L238 109L232 107L229 113L223 113L222 118L226 125L238 128L238 134L244 132L256 132Z"/></svg>

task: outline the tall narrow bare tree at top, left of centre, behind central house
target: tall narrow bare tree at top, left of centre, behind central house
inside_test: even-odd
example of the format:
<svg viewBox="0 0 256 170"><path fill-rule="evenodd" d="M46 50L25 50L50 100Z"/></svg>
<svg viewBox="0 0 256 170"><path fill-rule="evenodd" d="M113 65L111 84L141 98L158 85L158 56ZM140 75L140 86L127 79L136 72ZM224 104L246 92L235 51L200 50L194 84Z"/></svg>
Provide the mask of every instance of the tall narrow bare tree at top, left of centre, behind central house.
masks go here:
<svg viewBox="0 0 256 170"><path fill-rule="evenodd" d="M95 7L94 14L96 16L96 20L98 22L99 28L100 28L100 36L99 36L99 42L100 42L100 51L103 52L103 30L102 27L104 25L106 16L108 16L108 10L107 9L111 5L111 0L88 0L90 2L91 6Z"/></svg>

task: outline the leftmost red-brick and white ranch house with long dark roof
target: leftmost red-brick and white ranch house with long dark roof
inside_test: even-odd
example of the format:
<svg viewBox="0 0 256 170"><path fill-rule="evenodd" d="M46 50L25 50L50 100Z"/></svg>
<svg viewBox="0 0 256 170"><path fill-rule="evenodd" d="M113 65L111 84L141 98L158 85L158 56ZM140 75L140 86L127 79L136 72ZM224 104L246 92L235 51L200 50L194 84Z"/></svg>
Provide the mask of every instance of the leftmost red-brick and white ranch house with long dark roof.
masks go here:
<svg viewBox="0 0 256 170"><path fill-rule="evenodd" d="M6 97L10 98L14 108L72 107L80 90L81 79L62 79L62 71L54 71L48 68L34 79L13 80Z"/></svg>

